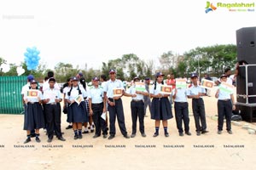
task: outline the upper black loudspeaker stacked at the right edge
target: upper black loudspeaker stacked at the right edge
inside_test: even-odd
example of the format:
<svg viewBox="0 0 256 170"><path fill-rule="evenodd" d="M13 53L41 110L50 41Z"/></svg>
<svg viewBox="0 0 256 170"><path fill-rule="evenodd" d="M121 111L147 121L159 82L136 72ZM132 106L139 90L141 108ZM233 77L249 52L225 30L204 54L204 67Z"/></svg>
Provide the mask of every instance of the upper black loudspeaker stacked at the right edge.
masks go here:
<svg viewBox="0 0 256 170"><path fill-rule="evenodd" d="M236 31L237 60L256 64L256 27L245 27Z"/></svg>

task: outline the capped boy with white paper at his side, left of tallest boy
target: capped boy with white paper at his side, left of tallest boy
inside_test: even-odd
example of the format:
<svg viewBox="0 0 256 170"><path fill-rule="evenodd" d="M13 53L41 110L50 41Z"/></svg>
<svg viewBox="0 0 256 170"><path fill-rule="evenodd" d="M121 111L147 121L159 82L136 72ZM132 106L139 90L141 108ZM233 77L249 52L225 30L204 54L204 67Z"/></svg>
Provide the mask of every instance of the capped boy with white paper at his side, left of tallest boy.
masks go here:
<svg viewBox="0 0 256 170"><path fill-rule="evenodd" d="M106 99L104 98L103 88L99 85L99 82L100 79L98 77L94 77L92 79L93 86L90 87L88 93L90 108L89 112L96 126L96 131L93 138L95 139L97 137L100 137L102 130L103 138L106 139L108 135L108 130L106 122L102 118L102 113L106 113Z"/></svg>

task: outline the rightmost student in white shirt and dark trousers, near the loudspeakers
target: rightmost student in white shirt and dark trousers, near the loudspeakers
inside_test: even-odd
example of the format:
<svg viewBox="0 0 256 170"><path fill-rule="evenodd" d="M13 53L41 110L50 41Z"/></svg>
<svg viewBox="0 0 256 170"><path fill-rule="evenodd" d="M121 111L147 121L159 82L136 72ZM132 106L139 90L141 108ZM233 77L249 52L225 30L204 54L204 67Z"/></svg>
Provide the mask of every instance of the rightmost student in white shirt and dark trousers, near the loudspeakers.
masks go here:
<svg viewBox="0 0 256 170"><path fill-rule="evenodd" d="M221 82L227 82L227 76L224 74L220 77ZM222 133L224 116L226 118L226 130L232 134L231 131L231 116L232 110L236 110L235 99L233 93L225 92L218 88L215 97L218 99L218 134Z"/></svg>

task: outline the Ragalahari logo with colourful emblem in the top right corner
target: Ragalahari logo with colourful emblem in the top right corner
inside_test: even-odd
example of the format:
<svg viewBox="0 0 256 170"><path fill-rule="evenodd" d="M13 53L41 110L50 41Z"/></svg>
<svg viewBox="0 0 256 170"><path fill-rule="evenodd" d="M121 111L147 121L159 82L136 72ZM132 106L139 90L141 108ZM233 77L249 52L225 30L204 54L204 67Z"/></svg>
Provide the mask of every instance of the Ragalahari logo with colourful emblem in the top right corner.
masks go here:
<svg viewBox="0 0 256 170"><path fill-rule="evenodd" d="M206 14L217 8L227 8L230 12L254 12L254 3L216 3L215 7L212 3L207 1Z"/></svg>

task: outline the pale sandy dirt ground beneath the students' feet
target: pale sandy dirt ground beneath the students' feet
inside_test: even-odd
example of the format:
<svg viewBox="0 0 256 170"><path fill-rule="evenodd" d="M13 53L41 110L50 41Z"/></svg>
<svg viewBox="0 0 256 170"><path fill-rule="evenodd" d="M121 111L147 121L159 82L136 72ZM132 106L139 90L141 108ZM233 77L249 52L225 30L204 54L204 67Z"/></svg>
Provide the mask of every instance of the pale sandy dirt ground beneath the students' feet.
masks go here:
<svg viewBox="0 0 256 170"><path fill-rule="evenodd" d="M125 123L131 134L130 98L123 97ZM149 112L145 117L146 138L139 132L134 139L125 139L118 125L112 140L92 139L93 133L83 139L73 139L73 131L66 130L67 116L62 115L61 128L66 142L54 139L47 143L44 130L40 130L41 143L35 139L23 144L22 115L0 115L1 169L256 169L256 135L232 125L233 134L217 134L217 99L204 98L207 112L207 134L196 136L195 122L189 99L190 132L192 136L178 136L175 119L169 120L170 137L163 128L153 138L154 120ZM174 112L173 112L174 114ZM240 122L255 127L253 123ZM225 123L224 123L225 126Z"/></svg>

